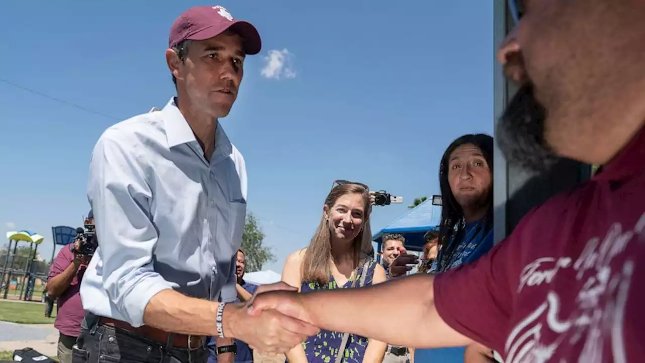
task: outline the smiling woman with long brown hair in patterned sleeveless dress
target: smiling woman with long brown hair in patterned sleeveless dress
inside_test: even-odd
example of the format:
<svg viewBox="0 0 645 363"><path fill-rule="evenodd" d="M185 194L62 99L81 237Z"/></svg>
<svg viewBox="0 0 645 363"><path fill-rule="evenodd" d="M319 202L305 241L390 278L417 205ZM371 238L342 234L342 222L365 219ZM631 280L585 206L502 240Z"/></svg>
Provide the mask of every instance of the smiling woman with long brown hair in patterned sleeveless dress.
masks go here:
<svg viewBox="0 0 645 363"><path fill-rule="evenodd" d="M366 185L334 182L309 246L287 257L283 282L301 292L384 282L385 270L364 253L370 209ZM381 363L385 349L385 343L359 335L321 331L286 357L290 363Z"/></svg>

